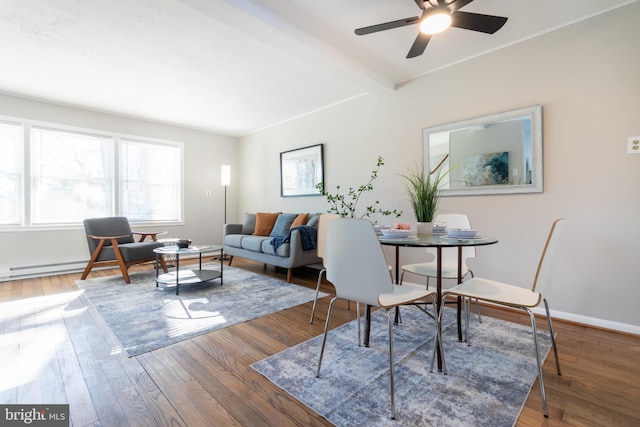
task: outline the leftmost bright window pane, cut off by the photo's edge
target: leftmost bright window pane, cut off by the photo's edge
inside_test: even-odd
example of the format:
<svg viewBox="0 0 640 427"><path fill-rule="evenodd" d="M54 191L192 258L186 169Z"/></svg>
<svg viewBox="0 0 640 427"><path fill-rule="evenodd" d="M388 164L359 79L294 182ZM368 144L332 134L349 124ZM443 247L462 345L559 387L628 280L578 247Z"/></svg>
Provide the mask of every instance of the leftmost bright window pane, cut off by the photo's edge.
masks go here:
<svg viewBox="0 0 640 427"><path fill-rule="evenodd" d="M0 122L0 225L19 225L23 217L22 125Z"/></svg>

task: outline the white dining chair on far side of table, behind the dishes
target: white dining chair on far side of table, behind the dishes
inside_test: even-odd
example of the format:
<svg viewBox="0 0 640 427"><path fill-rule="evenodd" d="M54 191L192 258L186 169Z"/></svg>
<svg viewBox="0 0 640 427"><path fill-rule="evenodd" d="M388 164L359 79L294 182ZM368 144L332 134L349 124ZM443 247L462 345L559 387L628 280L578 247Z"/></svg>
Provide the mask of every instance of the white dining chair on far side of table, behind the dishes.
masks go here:
<svg viewBox="0 0 640 427"><path fill-rule="evenodd" d="M447 228L471 228L471 221L465 214L450 213L440 214L436 216L434 223L446 224ZM427 248L427 254L433 257L432 260L427 262L420 262L415 264L404 264L400 267L400 284L404 280L404 274L412 273L417 276L423 276L427 278L427 289L429 289L429 280L431 278L438 277L437 263L436 263L436 250L435 248ZM462 278L467 275L473 277L473 271L469 269L467 260L475 258L476 248L473 246L465 246L462 248ZM442 278L443 279L458 279L458 248L443 248L442 249ZM476 311L478 313L478 321L482 322L482 316L480 314L480 304L476 301Z"/></svg>

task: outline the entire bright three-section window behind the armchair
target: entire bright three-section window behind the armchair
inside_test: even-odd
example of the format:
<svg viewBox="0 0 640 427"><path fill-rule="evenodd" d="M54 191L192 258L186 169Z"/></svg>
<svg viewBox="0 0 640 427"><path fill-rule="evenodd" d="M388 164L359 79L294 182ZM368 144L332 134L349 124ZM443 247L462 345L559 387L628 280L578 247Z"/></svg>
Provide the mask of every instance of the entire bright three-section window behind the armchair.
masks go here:
<svg viewBox="0 0 640 427"><path fill-rule="evenodd" d="M182 144L2 119L0 227L182 220Z"/></svg>

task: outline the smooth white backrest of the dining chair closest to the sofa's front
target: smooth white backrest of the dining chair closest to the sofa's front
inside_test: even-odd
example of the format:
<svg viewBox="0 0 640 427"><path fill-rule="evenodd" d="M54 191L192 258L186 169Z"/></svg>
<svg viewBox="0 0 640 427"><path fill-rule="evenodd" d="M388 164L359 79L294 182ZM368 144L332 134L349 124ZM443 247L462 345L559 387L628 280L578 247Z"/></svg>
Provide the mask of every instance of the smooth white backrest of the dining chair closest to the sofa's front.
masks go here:
<svg viewBox="0 0 640 427"><path fill-rule="evenodd" d="M325 265L336 296L379 306L378 296L393 292L389 267L373 224L338 218L328 223Z"/></svg>

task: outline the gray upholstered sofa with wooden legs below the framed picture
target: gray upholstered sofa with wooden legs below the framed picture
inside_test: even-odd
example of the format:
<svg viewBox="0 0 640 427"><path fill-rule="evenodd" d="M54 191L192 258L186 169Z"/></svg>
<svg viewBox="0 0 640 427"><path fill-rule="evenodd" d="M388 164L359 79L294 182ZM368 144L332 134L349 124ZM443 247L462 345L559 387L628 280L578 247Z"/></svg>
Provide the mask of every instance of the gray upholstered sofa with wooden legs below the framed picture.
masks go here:
<svg viewBox="0 0 640 427"><path fill-rule="evenodd" d="M242 224L225 224L223 229L224 252L230 256L229 265L234 256L247 258L287 269L287 282L291 282L293 269L313 264L322 264L315 248L315 230L318 227L318 214L309 214L305 224L293 228L292 218L297 214L279 214L269 235L254 235L256 214L245 214ZM274 239L280 239L275 248ZM282 241L284 240L284 243ZM312 248L309 248L311 247ZM307 247L305 250L304 247Z"/></svg>

